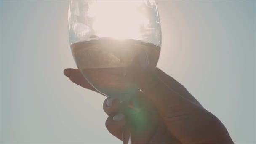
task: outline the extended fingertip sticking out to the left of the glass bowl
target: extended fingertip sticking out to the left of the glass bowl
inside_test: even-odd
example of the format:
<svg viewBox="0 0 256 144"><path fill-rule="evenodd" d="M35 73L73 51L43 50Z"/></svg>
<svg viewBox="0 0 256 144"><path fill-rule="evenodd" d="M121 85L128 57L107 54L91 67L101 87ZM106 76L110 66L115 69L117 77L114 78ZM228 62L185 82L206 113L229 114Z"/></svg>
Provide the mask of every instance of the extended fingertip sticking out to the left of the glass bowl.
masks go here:
<svg viewBox="0 0 256 144"><path fill-rule="evenodd" d="M71 68L65 69L65 70L64 70L64 75L65 75L66 77L69 77L69 79L70 79L73 83L75 83L75 84L77 84L77 85L80 85L80 86L82 86L83 88L87 88L87 89L89 89L89 90L96 91L96 89L93 88L93 87L91 86L91 84L88 83L88 81L83 77L83 75L81 74L81 72L79 71L79 69L71 69ZM96 92L98 92L98 91L96 91Z"/></svg>

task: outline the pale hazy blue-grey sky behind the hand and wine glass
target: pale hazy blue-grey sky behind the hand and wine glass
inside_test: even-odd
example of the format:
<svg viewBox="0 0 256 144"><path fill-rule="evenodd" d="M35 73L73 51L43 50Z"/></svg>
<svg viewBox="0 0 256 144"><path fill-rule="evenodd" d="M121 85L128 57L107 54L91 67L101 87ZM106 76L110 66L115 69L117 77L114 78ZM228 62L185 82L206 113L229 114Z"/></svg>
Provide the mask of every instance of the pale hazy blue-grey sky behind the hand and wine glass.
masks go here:
<svg viewBox="0 0 256 144"><path fill-rule="evenodd" d="M256 143L256 2L157 1L157 67L183 84L235 143ZM121 143L105 99L71 83L68 1L0 1L1 143Z"/></svg>

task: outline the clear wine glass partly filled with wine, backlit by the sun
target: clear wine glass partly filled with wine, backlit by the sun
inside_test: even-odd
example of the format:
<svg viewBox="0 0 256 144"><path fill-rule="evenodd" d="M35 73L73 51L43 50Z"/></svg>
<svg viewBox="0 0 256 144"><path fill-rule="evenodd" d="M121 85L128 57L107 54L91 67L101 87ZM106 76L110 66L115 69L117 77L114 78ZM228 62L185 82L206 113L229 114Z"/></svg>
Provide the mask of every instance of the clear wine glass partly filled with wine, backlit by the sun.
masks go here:
<svg viewBox="0 0 256 144"><path fill-rule="evenodd" d="M127 76L129 67L138 62L155 69L160 56L155 0L72 0L68 23L72 54L85 79L105 96L129 103L140 90Z"/></svg>

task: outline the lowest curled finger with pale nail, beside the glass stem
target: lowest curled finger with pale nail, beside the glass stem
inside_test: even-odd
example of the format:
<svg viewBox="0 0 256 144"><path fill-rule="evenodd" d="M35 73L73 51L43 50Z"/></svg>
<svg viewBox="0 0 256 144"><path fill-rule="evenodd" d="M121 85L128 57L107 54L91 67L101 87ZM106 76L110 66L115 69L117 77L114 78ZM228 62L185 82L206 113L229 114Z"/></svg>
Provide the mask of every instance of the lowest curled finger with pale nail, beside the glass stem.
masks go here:
<svg viewBox="0 0 256 144"><path fill-rule="evenodd" d="M109 116L106 120L105 125L109 133L111 133L112 135L114 135L115 137L122 141L122 131L125 127L125 122L125 115L123 115L122 113L118 113L114 116Z"/></svg>

